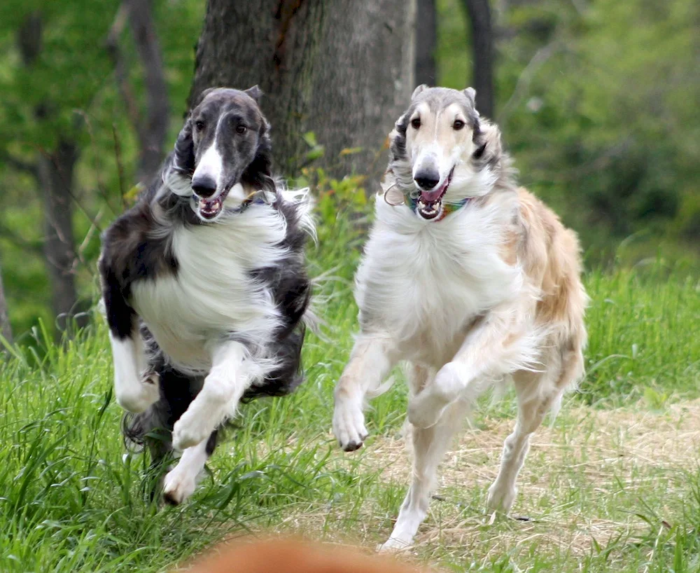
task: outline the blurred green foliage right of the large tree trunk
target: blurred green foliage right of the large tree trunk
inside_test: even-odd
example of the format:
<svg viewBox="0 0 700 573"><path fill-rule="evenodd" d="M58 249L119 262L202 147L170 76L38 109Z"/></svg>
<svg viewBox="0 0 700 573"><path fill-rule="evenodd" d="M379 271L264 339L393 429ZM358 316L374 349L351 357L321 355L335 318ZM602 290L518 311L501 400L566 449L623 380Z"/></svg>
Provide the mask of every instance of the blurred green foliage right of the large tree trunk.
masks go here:
<svg viewBox="0 0 700 573"><path fill-rule="evenodd" d="M470 75L461 4L438 2L440 83L454 88ZM697 3L541 0L494 15L496 120L521 181L594 261L640 232L637 256L656 255L662 239L668 256L690 247L697 257Z"/></svg>

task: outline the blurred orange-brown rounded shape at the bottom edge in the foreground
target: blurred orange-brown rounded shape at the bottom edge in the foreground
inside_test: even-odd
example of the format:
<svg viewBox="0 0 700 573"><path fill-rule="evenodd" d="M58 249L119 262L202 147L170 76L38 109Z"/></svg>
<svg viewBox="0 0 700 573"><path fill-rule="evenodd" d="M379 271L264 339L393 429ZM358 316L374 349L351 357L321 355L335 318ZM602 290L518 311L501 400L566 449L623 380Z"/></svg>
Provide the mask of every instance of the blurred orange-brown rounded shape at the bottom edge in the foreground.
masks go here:
<svg viewBox="0 0 700 573"><path fill-rule="evenodd" d="M196 560L189 573L426 573L386 556L297 539L222 544Z"/></svg>

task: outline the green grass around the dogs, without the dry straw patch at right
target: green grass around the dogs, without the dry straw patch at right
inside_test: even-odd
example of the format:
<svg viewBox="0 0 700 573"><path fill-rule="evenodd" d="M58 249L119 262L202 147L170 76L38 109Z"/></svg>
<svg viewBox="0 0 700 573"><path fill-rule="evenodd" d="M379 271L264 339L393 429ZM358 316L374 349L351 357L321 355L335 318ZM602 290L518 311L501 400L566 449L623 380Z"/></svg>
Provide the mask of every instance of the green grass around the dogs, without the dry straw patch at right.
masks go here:
<svg viewBox="0 0 700 573"><path fill-rule="evenodd" d="M185 506L160 508L148 501L146 457L127 453L120 438L111 357L98 317L63 346L39 328L36 345L4 359L1 572L161 571L211 541L248 530L302 530L322 538L342 534L368 543L386 536L405 484L387 481L386 467L370 462L369 454L341 459L328 431L332 386L356 329L351 276L358 242L346 238L346 224L339 219L323 248L311 255L317 275L330 271L318 288L325 338L309 335L304 348L307 382L288 398L244 406L230 443L209 464L214 479L205 480ZM668 401L698 396L697 276L661 268L594 271L586 283L592 299L588 373L577 399L598 408L663 408ZM405 399L398 384L374 401L367 452L382 436L398 434ZM659 491L646 506L624 510L647 516L653 525L647 537L636 539L636 545L624 535L596 541L588 558L577 558L577 570L606 570L610 555L620 551L631 557L615 561L615 570L666 571L670 563L676 572L696 570L700 478L691 471L684 479L685 511L675 514L673 525L657 530L654 512L666 503ZM482 507L484 491L470 491L465 485L456 494L466 499L465 514ZM454 570L515 572L524 563L530 571L568 570L570 555L540 555L534 542L529 561L521 552L517 559L490 555L493 536L512 527L508 521L484 526L480 537L486 545L470 547L473 558L464 548L440 544L423 557Z"/></svg>

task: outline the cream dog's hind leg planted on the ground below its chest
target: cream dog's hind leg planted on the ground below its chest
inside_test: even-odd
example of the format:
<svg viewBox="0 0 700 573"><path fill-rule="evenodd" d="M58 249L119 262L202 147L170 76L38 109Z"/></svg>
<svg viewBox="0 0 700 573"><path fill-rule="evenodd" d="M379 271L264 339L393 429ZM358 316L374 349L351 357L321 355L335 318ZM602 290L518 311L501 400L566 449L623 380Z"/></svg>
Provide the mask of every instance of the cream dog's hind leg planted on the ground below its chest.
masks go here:
<svg viewBox="0 0 700 573"><path fill-rule="evenodd" d="M470 404L463 400L452 402L440 420L432 427L412 427L413 478L406 494L391 537L380 551L392 551L410 546L419 525L428 513L430 491L435 487L437 466L454 433L461 428Z"/></svg>

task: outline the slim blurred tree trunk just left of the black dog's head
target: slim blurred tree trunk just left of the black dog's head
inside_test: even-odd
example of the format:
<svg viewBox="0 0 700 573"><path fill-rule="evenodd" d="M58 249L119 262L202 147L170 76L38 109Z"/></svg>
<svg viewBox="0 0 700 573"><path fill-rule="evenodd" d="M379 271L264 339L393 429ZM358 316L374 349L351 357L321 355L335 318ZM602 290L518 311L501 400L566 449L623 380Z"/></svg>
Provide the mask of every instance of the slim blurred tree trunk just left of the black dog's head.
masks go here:
<svg viewBox="0 0 700 573"><path fill-rule="evenodd" d="M125 0L146 84L146 116L136 125L141 148L137 178L148 184L163 159L170 109L165 71L150 0Z"/></svg>

